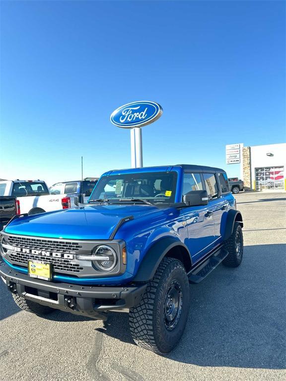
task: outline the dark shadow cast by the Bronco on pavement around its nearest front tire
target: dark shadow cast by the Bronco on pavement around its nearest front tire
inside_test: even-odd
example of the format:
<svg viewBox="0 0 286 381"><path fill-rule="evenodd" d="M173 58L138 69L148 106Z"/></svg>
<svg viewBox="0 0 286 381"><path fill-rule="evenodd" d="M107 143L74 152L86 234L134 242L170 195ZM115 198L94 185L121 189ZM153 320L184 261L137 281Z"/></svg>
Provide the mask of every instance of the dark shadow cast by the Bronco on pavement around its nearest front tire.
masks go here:
<svg viewBox="0 0 286 381"><path fill-rule="evenodd" d="M282 244L246 246L240 267L220 265L190 285L183 338L164 357L206 367L286 368L285 254ZM97 330L134 344L128 314L110 313Z"/></svg>

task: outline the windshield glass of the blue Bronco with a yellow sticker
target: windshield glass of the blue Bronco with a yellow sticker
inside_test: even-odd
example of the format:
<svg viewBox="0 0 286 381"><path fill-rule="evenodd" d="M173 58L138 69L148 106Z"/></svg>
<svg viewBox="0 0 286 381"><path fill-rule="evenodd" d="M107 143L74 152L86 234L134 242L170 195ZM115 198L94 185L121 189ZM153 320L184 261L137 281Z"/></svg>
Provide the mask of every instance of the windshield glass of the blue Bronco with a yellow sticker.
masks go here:
<svg viewBox="0 0 286 381"><path fill-rule="evenodd" d="M108 199L111 203L119 203L124 199L141 198L152 203L172 203L175 202L176 185L176 172L104 176L92 192L90 201Z"/></svg>

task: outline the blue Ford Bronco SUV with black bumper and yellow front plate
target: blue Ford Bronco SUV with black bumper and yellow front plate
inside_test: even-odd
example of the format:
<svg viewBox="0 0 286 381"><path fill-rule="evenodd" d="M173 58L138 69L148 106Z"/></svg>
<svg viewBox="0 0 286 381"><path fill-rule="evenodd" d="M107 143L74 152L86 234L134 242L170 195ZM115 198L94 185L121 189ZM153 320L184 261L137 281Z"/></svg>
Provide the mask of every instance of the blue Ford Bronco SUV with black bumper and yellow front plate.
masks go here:
<svg viewBox="0 0 286 381"><path fill-rule="evenodd" d="M189 283L243 254L242 216L226 173L197 165L104 173L87 203L13 217L1 232L0 276L16 304L96 319L129 310L134 341L178 343Z"/></svg>

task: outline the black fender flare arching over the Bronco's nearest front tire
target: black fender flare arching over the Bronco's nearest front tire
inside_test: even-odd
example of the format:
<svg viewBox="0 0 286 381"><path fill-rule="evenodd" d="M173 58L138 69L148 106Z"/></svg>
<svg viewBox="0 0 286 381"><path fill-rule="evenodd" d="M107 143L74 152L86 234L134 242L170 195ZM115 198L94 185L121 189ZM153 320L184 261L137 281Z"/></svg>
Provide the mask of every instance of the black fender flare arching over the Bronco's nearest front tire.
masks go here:
<svg viewBox="0 0 286 381"><path fill-rule="evenodd" d="M166 237L157 241L150 247L143 257L133 281L146 282L151 280L164 256L176 246L181 247L184 251L187 250L189 254L189 258L187 259L190 260L190 264L192 264L191 254L186 245L174 238Z"/></svg>

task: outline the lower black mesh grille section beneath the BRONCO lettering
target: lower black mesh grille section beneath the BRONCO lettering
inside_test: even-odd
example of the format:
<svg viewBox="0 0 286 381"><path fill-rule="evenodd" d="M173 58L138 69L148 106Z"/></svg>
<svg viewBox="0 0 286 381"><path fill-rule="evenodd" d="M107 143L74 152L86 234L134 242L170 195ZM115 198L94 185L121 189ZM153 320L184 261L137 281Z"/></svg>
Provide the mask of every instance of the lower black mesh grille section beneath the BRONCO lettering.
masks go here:
<svg viewBox="0 0 286 381"><path fill-rule="evenodd" d="M53 269L58 271L80 272L83 267L80 267L77 263L71 263L70 259L56 258L52 256L44 256L38 254L26 254L13 252L9 255L9 258L13 262L28 265L29 259L41 260L43 262L49 262L53 264Z"/></svg>

